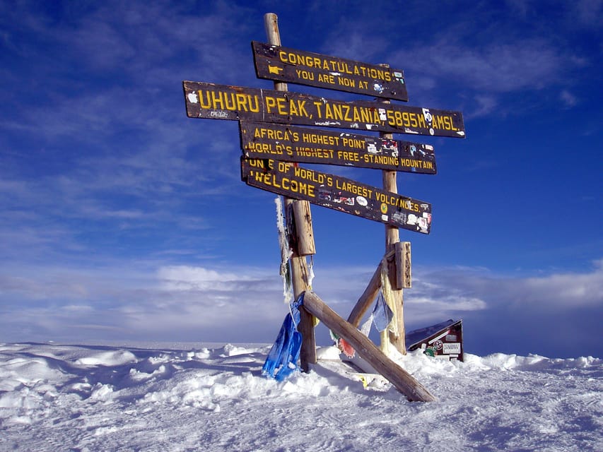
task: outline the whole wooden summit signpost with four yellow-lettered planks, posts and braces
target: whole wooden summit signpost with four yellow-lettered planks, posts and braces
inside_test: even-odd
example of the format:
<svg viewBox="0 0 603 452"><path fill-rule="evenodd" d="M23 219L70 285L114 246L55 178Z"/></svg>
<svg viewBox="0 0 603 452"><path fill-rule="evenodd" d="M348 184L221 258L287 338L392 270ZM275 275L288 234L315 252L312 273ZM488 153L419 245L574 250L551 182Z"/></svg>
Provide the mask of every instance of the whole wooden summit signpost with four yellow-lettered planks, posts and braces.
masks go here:
<svg viewBox="0 0 603 452"><path fill-rule="evenodd" d="M304 294L298 331L303 335L300 362L307 371L316 363L314 316L352 345L409 400L435 398L404 369L357 330L379 290L387 292L400 328L382 333L404 346L402 288L410 287L410 243L399 242L399 228L428 234L431 204L397 193L397 171L435 174L433 146L395 140L392 133L464 138L461 112L392 104L408 100L404 72L387 65L327 57L281 47L276 15L266 14L269 44L252 42L259 78L273 80L274 90L183 81L187 115L240 123L241 178L246 184L285 198L286 224L292 234L289 268L295 298ZM346 102L290 93L286 83L343 90L380 97L380 101ZM295 124L295 125L294 125ZM301 126L352 129L354 133ZM377 131L379 136L356 132ZM298 162L381 169L383 189L345 177L298 166ZM314 254L310 206L313 203L385 224L385 255L348 321L341 319L310 287L306 257ZM283 248L283 256L288 251ZM286 262L286 257L285 257ZM393 323L392 323L393 324Z"/></svg>

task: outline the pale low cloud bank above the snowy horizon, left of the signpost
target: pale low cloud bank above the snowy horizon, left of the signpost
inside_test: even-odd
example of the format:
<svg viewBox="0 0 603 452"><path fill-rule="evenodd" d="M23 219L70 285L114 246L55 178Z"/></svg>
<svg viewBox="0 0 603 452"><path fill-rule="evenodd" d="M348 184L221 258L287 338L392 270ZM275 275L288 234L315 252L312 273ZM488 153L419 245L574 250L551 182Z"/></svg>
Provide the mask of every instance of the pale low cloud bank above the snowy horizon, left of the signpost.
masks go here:
<svg viewBox="0 0 603 452"><path fill-rule="evenodd" d="M13 340L106 338L112 331L116 339L268 341L287 311L279 276L254 268L153 271L139 264L0 274L1 330Z"/></svg>

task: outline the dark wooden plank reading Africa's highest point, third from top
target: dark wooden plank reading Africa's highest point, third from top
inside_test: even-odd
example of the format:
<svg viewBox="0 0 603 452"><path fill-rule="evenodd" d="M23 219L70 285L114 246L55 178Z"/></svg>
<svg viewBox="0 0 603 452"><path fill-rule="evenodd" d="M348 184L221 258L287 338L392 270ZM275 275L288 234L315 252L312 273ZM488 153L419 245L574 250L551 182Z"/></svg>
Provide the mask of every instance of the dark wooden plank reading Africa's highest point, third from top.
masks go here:
<svg viewBox="0 0 603 452"><path fill-rule="evenodd" d="M431 145L265 122L240 121L239 127L241 149L249 158L437 172Z"/></svg>

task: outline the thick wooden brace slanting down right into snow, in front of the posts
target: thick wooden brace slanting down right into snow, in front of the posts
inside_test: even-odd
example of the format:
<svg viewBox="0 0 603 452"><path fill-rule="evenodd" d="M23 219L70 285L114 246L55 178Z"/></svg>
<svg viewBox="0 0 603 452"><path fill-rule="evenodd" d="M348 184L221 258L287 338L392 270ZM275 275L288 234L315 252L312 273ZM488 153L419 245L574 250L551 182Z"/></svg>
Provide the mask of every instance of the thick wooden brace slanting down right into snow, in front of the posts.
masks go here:
<svg viewBox="0 0 603 452"><path fill-rule="evenodd" d="M382 376L385 376L411 402L433 402L435 400L435 397L421 383L416 381L411 374L388 358L363 333L344 319L341 319L314 292L305 292L303 306L310 314L320 319L327 328L330 328L341 336L341 338L348 341L358 355L365 359Z"/></svg>

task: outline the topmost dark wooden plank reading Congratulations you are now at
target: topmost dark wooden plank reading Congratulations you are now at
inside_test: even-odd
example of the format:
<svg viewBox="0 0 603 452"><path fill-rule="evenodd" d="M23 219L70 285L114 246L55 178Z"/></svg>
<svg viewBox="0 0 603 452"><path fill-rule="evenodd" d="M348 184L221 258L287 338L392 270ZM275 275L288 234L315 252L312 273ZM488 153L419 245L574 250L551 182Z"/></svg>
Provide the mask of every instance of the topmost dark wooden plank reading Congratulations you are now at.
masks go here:
<svg viewBox="0 0 603 452"><path fill-rule="evenodd" d="M402 69L288 49L252 41L258 78L329 90L409 100Z"/></svg>

